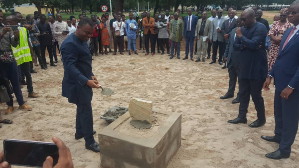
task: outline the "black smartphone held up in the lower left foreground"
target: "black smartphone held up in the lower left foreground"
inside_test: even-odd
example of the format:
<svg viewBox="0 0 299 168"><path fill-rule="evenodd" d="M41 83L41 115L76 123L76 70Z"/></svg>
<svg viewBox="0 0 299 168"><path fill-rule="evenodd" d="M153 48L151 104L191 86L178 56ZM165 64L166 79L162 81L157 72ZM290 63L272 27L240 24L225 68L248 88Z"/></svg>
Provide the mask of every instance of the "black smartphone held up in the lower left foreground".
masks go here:
<svg viewBox="0 0 299 168"><path fill-rule="evenodd" d="M55 143L12 140L3 141L4 161L9 165L42 168L48 156L53 158L53 167L59 154Z"/></svg>

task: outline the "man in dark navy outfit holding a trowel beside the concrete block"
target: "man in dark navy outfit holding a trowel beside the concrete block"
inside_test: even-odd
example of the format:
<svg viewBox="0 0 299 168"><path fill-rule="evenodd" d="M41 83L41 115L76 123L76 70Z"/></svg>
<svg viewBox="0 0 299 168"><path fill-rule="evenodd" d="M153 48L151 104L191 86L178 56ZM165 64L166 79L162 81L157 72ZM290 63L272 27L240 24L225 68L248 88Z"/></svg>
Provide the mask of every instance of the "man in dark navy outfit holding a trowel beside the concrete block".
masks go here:
<svg viewBox="0 0 299 168"><path fill-rule="evenodd" d="M100 88L92 73L91 53L87 41L94 32L94 22L87 17L80 19L75 33L69 35L61 45L64 76L62 96L77 105L75 139L85 139L85 148L100 152L93 135L92 88Z"/></svg>

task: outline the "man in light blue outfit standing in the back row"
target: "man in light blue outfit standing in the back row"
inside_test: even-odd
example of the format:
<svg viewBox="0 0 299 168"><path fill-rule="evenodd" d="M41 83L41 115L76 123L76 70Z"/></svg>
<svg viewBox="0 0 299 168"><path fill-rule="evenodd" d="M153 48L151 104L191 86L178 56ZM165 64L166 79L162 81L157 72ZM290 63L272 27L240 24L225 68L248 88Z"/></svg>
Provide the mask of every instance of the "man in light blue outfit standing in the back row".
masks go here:
<svg viewBox="0 0 299 168"><path fill-rule="evenodd" d="M134 25L133 25L134 24ZM136 51L136 30L138 29L137 22L133 19L133 13L129 13L129 19L126 21L126 31L128 37L128 50L131 55L131 46L133 46L134 53L138 55Z"/></svg>

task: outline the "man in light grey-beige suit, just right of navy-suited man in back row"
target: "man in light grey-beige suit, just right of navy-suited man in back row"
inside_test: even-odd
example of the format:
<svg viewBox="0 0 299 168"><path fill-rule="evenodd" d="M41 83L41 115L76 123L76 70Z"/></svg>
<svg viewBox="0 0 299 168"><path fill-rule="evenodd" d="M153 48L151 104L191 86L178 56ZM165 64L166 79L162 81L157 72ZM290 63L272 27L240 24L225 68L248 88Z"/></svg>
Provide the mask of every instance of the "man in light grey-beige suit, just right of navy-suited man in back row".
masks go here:
<svg viewBox="0 0 299 168"><path fill-rule="evenodd" d="M195 41L197 41L197 58L195 62L200 61L201 50L203 50L202 54L202 62L205 62L205 56L207 55L207 47L208 41L210 37L210 32L212 28L212 21L207 19L207 12L201 13L201 19L198 20L195 29ZM205 40L203 39L205 38Z"/></svg>

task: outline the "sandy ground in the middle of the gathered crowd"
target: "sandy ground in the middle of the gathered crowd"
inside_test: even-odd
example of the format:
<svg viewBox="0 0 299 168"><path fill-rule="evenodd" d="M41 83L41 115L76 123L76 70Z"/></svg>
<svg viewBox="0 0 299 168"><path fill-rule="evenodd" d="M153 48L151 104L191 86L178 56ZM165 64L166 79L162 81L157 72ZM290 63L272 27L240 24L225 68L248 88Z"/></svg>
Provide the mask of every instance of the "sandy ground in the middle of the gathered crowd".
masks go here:
<svg viewBox="0 0 299 168"><path fill-rule="evenodd" d="M181 52L181 57L183 57ZM211 60L211 59L210 59ZM232 125L227 120L238 114L239 104L232 99L220 100L227 92L228 72L218 64L169 60L165 55L101 55L94 57L93 72L103 87L115 95L103 96L94 90L92 101L94 130L98 133L108 124L100 119L112 106L128 107L132 97L153 102L154 108L167 113L182 113L182 145L167 168L298 168L299 137L293 145L290 159L274 161L265 154L278 149L278 144L262 140L261 135L274 135L273 99L275 88L263 91L267 123L261 128L246 124ZM39 98L23 96L33 110L15 109L4 116L6 105L0 104L5 119L11 125L0 129L0 151L4 139L22 139L52 142L53 136L61 138L70 148L76 168L99 168L100 155L85 149L84 140L75 140L76 106L61 96L63 66L32 74L34 91ZM237 90L237 89L236 89ZM236 95L236 93L235 93ZM17 107L15 101L14 107ZM248 124L256 120L252 101L248 108ZM98 142L97 134L95 135ZM101 143L101 142L99 142Z"/></svg>

